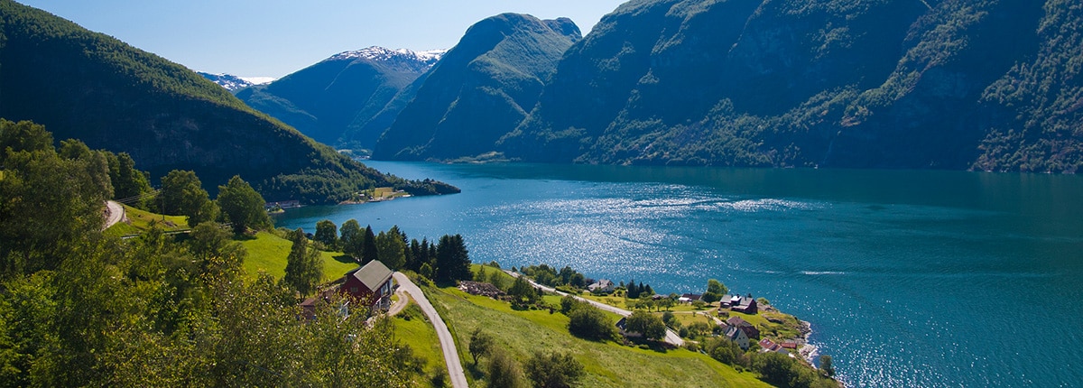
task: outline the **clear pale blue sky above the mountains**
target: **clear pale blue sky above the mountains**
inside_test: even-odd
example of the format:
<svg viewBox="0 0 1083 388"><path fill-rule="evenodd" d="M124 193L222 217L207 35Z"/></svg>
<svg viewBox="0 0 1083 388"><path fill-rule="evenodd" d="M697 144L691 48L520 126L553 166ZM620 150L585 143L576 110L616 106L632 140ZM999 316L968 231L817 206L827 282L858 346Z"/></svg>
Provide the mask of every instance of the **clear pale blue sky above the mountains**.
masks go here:
<svg viewBox="0 0 1083 388"><path fill-rule="evenodd" d="M16 0L192 69L282 77L382 46L449 49L504 12L570 17L586 34L625 0Z"/></svg>

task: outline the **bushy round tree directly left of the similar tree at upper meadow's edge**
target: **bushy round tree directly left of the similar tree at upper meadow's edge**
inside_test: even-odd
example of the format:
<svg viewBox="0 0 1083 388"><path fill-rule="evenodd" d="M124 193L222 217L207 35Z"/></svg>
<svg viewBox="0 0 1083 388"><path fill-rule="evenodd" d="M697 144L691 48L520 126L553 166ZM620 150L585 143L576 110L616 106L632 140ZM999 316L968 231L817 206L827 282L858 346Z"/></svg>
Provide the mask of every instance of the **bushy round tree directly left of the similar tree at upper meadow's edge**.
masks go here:
<svg viewBox="0 0 1083 388"><path fill-rule="evenodd" d="M203 182L193 171L169 171L161 178L161 191L155 203L164 214L184 216L192 228L213 221L219 215L218 205L210 201Z"/></svg>

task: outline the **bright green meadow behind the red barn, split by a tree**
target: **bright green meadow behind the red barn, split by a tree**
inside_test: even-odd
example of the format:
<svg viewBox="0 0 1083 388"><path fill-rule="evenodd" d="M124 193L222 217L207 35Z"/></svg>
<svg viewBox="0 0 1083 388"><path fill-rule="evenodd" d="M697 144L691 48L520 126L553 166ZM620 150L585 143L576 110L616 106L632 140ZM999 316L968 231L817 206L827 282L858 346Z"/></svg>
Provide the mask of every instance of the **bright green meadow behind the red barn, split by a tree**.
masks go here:
<svg viewBox="0 0 1083 388"><path fill-rule="evenodd" d="M273 233L259 232L256 238L240 242L248 250L248 258L245 259L245 272L249 276L255 276L259 271L264 271L275 279L280 279L286 274L286 258L289 256L289 248L293 243L282 238ZM357 268L351 259L342 258L342 254L322 251L324 258L324 281L329 282L342 277L347 272Z"/></svg>

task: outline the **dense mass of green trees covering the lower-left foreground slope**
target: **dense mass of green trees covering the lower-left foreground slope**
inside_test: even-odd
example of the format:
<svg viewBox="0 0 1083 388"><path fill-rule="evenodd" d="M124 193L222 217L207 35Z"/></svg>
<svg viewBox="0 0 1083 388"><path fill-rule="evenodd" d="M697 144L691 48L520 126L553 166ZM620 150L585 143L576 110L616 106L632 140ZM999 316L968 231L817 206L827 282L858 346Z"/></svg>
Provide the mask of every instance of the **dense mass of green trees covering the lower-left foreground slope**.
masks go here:
<svg viewBox="0 0 1083 388"><path fill-rule="evenodd" d="M384 323L369 328L366 314L342 319L329 306L299 320L295 290L247 276L248 251L225 225L200 222L185 238L103 234L107 157L61 144L41 126L0 120L0 384L406 387L419 378L417 359Z"/></svg>

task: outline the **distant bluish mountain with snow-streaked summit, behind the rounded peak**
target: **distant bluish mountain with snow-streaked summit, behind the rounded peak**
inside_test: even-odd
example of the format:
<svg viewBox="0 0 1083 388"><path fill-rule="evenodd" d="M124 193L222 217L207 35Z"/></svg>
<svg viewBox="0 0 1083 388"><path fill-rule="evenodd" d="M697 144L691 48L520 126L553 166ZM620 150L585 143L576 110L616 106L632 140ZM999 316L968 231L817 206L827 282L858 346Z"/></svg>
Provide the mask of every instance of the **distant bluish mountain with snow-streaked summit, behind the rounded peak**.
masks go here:
<svg viewBox="0 0 1083 388"><path fill-rule="evenodd" d="M391 125L386 117L393 120L400 111L394 108L399 105L389 107L389 103L443 54L443 50L415 52L380 47L348 51L236 94L249 106L316 141L371 148ZM413 94L406 95L409 99Z"/></svg>

